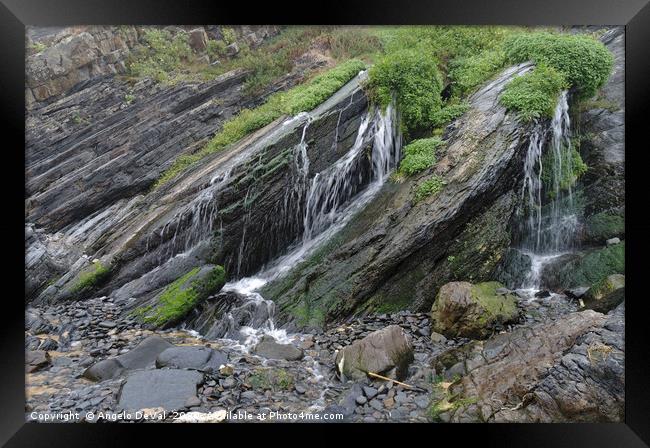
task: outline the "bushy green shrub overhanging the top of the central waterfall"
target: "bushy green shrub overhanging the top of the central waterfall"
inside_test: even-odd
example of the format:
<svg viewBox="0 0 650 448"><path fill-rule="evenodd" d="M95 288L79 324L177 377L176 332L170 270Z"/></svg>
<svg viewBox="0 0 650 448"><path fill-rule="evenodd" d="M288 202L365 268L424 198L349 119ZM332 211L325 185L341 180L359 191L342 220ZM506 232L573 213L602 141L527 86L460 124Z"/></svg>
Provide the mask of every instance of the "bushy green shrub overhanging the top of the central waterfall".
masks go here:
<svg viewBox="0 0 650 448"><path fill-rule="evenodd" d="M418 49L390 53L369 70L367 84L373 103L386 107L393 95L407 131L425 129L440 110L442 78L437 61Z"/></svg>

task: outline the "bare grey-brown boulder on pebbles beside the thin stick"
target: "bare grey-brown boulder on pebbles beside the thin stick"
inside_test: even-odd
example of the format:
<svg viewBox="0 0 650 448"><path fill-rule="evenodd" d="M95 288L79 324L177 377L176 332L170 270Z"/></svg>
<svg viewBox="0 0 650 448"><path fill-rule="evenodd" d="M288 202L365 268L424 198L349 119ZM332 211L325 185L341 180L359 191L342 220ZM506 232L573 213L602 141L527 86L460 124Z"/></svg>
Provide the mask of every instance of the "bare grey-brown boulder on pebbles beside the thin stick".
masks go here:
<svg viewBox="0 0 650 448"><path fill-rule="evenodd" d="M363 380L372 372L399 380L413 359L413 345L404 330L390 325L340 350L336 367L348 379Z"/></svg>

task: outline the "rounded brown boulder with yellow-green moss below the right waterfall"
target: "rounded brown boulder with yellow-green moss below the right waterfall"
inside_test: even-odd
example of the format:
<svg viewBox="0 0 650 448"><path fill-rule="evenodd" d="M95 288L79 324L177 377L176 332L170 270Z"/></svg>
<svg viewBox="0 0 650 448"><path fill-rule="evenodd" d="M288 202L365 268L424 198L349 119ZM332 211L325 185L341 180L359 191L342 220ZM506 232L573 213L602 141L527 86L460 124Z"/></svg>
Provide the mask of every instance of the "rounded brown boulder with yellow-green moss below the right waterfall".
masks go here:
<svg viewBox="0 0 650 448"><path fill-rule="evenodd" d="M431 308L431 328L446 337L484 339L495 327L519 317L517 299L497 294L499 282L451 282L440 288Z"/></svg>

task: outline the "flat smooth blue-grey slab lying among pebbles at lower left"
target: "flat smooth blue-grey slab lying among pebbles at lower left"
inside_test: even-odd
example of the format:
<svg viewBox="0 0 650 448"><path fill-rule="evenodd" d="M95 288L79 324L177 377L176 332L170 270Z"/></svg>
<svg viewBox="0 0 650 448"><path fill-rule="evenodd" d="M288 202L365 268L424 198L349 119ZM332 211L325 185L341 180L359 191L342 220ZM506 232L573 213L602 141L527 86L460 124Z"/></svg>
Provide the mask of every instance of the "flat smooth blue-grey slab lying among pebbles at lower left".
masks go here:
<svg viewBox="0 0 650 448"><path fill-rule="evenodd" d="M195 370L159 369L134 372L126 379L119 398L124 410L185 407L189 399L197 398L196 387L203 374Z"/></svg>

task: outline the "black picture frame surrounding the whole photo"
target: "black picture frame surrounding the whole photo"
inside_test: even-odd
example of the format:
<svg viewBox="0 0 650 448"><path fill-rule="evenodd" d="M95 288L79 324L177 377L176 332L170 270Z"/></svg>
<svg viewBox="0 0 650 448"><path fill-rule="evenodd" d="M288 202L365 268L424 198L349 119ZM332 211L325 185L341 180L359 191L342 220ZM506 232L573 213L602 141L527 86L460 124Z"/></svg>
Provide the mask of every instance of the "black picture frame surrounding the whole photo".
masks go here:
<svg viewBox="0 0 650 448"><path fill-rule="evenodd" d="M6 269L0 325L0 443L7 446L107 446L132 440L135 431L155 428L166 435L183 427L192 431L187 442L200 443L199 435L215 438L225 432L248 433L248 427L221 425L48 425L25 423L24 413L24 302L21 297L20 260L24 260L24 73L25 26L72 24L513 24L513 25L624 25L626 30L626 417L620 424L501 424L501 425L357 425L346 429L384 437L388 433L407 443L451 443L444 440L476 438L481 446L649 446L650 445L650 331L647 320L647 277L644 257L650 252L650 225L646 221L648 145L646 122L650 118L650 3L649 0L444 0L437 2L356 1L311 2L282 6L277 3L174 0L1 0L0 100L5 134L2 190L4 213L0 219L5 236ZM292 14L288 14L288 12ZM10 138L13 137L13 138ZM13 142L13 143L10 143ZM21 247L22 246L22 247ZM10 249L10 250L7 250ZM10 288L14 283L14 287ZM24 297L24 294L23 294ZM171 427L175 428L171 428ZM301 437L322 434L340 443L338 429L327 425L303 424ZM223 429L227 428L227 429ZM286 424L256 426L254 433L289 429ZM307 429L307 431L303 431ZM415 435L422 431L423 434ZM196 435L195 435L196 434ZM234 434L230 434L234 435ZM419 441L416 437L422 436ZM196 437L196 439L195 439ZM225 436L224 436L225 437ZM248 436L247 436L248 437ZM451 437L451 438L449 438ZM296 441L300 438L293 437ZM339 439L339 441L336 441ZM228 443L250 443L248 438ZM325 440L325 438L321 439ZM225 439L224 439L225 441ZM216 442L215 442L216 443ZM225 443L225 442L222 442ZM367 442L372 443L372 442Z"/></svg>

